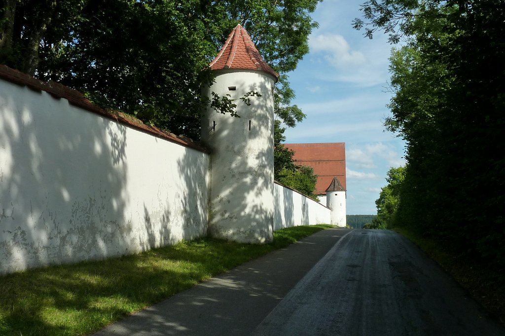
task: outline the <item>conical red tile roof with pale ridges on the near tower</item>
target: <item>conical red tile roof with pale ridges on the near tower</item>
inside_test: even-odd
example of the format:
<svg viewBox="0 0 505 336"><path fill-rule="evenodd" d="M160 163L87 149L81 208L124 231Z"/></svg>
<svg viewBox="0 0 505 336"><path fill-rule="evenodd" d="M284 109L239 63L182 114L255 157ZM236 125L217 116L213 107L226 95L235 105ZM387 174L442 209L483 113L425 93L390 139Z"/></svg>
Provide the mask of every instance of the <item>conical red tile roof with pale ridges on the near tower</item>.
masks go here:
<svg viewBox="0 0 505 336"><path fill-rule="evenodd" d="M241 25L237 25L233 29L218 56L209 64L209 67L212 70L260 70L273 75L276 79L279 78L279 74L265 62L252 43L249 34Z"/></svg>

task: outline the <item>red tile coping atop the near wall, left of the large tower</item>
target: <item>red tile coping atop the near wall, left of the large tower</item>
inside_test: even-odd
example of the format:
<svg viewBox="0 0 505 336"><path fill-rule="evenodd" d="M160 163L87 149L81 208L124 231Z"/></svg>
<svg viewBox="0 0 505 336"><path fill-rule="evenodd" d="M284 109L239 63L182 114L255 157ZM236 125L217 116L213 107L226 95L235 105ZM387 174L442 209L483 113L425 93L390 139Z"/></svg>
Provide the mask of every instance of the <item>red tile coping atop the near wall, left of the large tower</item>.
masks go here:
<svg viewBox="0 0 505 336"><path fill-rule="evenodd" d="M120 111L106 111L103 108L91 103L84 97L81 92L52 80L43 82L28 74L12 69L3 64L0 64L0 78L17 85L27 86L28 88L35 91L45 91L57 99L66 99L70 104L76 107L82 108L86 111L98 114L108 119L115 120L123 125L142 131L144 133L154 135L170 142L178 143L181 146L189 147L203 153L210 153L210 149L199 145L197 142L194 142L192 139L186 136L178 136L173 133L164 131L158 127L148 126L139 119Z"/></svg>

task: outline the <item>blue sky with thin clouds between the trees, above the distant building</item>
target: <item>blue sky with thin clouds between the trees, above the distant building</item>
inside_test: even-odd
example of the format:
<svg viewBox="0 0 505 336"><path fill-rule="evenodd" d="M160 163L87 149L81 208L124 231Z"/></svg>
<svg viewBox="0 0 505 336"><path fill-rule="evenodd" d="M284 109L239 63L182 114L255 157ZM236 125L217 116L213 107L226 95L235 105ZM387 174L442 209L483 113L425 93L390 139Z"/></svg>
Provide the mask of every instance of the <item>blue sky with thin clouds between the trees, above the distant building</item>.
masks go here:
<svg viewBox="0 0 505 336"><path fill-rule="evenodd" d="M363 1L325 0L313 18L310 53L289 74L307 118L285 132L286 142L345 142L347 214L376 214L375 200L390 167L405 164L405 143L384 131L391 93L387 36L370 40L352 29Z"/></svg>

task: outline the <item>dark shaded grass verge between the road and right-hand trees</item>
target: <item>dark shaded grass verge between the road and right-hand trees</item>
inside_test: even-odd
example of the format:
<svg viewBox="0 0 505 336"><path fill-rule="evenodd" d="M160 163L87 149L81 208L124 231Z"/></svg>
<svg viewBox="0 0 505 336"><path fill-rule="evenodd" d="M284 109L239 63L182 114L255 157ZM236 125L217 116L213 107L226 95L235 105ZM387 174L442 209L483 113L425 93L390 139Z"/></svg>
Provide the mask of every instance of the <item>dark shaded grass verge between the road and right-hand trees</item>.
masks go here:
<svg viewBox="0 0 505 336"><path fill-rule="evenodd" d="M448 253L440 242L405 228L392 230L406 236L456 279L500 323L505 325L505 276L468 256Z"/></svg>

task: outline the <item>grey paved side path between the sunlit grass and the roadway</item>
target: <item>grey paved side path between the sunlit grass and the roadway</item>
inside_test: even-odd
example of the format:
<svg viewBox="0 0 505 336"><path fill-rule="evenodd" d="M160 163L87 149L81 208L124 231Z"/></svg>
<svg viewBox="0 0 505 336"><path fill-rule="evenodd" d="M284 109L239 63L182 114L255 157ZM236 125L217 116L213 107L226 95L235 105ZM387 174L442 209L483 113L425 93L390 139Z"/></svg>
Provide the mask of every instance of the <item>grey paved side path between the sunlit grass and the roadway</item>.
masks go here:
<svg viewBox="0 0 505 336"><path fill-rule="evenodd" d="M348 229L326 229L238 266L95 336L248 335Z"/></svg>

